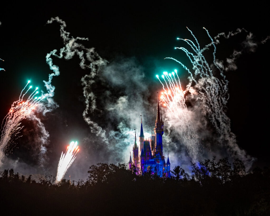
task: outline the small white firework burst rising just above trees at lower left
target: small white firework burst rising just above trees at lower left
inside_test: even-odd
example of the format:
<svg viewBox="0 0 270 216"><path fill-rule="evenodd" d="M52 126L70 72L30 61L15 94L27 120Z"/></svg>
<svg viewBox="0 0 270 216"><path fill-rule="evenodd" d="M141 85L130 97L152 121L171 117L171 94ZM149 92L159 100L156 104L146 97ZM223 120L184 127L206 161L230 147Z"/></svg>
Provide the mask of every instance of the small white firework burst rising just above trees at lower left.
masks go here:
<svg viewBox="0 0 270 216"><path fill-rule="evenodd" d="M58 167L57 167L57 174L56 174L56 180L55 180L56 184L62 180L62 178L65 176L66 172L68 171L68 168L71 166L71 164L75 160L76 158L75 156L80 150L77 144L78 144L77 141L76 142L72 141L67 147L65 154L63 154L63 151L62 151L62 154L60 156L60 160L58 163Z"/></svg>

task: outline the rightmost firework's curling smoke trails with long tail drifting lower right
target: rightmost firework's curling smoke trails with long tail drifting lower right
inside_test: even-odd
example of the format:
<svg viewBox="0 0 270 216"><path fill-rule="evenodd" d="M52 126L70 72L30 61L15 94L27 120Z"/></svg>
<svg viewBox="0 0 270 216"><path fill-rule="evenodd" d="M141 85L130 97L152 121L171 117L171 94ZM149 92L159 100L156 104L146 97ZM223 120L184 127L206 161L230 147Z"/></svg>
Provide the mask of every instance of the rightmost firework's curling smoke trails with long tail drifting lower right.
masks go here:
<svg viewBox="0 0 270 216"><path fill-rule="evenodd" d="M204 28L205 29L205 28ZM188 29L190 31L190 29ZM175 49L180 49L185 52L191 64L193 65L194 72L191 72L183 63L174 59L176 62L180 63L185 70L189 73L189 83L187 84L186 91L191 93L191 97L196 98L196 101L200 103L198 106L200 112L204 114L204 117L208 118L211 124L214 126L215 130L219 136L219 144L221 146L226 147L230 156L239 157L241 159L247 169L249 169L254 161L254 158L251 158L246 154L244 150L241 150L236 142L235 134L231 132L230 119L226 115L226 104L229 99L228 94L228 80L223 73L223 67L216 60L216 44L219 43L218 38L222 35L225 38L229 38L239 32L240 29L237 29L236 33L230 32L227 36L224 33L219 34L215 37L215 41L211 38L207 29L208 37L211 40L211 43L206 45L204 48L200 48L197 38L190 31L191 35L196 41L196 44L188 39L179 39L185 41L192 49L192 52L188 51L183 47L176 47ZM213 51L213 63L210 66L203 55L205 50L209 50L210 47L214 48ZM213 70L217 70L220 72L220 77L213 75ZM192 84L195 83L194 86ZM184 100L183 100L184 102Z"/></svg>

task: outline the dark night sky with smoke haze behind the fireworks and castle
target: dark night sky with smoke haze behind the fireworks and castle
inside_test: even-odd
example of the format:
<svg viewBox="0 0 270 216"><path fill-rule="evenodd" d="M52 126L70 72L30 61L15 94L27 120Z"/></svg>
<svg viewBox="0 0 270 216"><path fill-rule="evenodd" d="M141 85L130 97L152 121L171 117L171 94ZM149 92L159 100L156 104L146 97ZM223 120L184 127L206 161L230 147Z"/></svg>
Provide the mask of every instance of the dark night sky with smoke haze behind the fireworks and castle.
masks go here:
<svg viewBox="0 0 270 216"><path fill-rule="evenodd" d="M60 36L61 23L53 21L47 24L51 18L59 17L66 23L64 30L70 33L69 39L88 38L77 39L76 49L86 56L87 50L94 48L90 51L94 56L93 62L86 60L85 65L93 63L95 66L82 69L78 53L70 59L65 59L66 53L63 58L51 55L60 72L53 76L51 83L55 87L50 98L54 106L52 101L49 103L45 99L41 102L44 104L42 109L34 115L35 120L27 118L22 121L24 127L18 135L22 136L15 140L14 149L2 159L1 169L14 168L23 174L55 175L61 152L71 141L78 141L80 146L77 158L66 175L71 175L73 180L85 180L92 164L129 161L134 128L137 138L139 134L140 115L145 136L151 134L154 127L157 92L162 91L156 75L177 69L183 90L188 83L188 72L176 61L164 58L177 59L192 71L193 65L183 50L174 49L190 47L176 38L187 38L195 43L192 32L203 48L211 43L203 27L212 38L222 32L229 35L241 29L241 33L230 34L227 39L220 37L215 53L215 58L223 61L224 67L232 65L226 63L226 59L232 59L235 54L235 67L224 70L230 97L223 107L225 117L222 117L230 120L227 124L230 130L227 129L226 133L231 132L235 139L232 144L219 143L217 137L220 135L211 122L198 115L202 114L204 105L195 104L190 96L186 98L187 109L203 147L188 147L181 137L187 130L181 129L183 125L176 127L181 121L170 119L168 110L162 107L164 154L166 157L167 152L169 157L171 155L172 167L180 165L186 171L191 155L198 156L197 159L239 156L241 159L249 158L248 167L268 165L265 140L269 41L264 42L270 35L267 14L263 5L236 6L225 2L210 5L170 1L162 4L100 1L63 5L46 2L36 6L6 4L0 14L0 58L4 60L0 61L0 68L5 69L0 71L1 119L9 112L11 104L18 100L28 80L47 93L43 80L48 81L53 71L46 62L46 55L55 49L59 55L65 46ZM213 51L212 46L203 53L209 65L213 63ZM106 65L98 60L106 62ZM82 77L85 77L84 81ZM84 82L87 87L82 84ZM89 107L84 93L89 96ZM44 110L47 111L42 114ZM84 112L87 112L85 116ZM197 127L196 116L200 123L207 121L207 127ZM199 117L202 118L199 120ZM172 125L169 126L169 122ZM204 141L201 141L202 137ZM238 151L240 155L235 153L235 148L241 150L241 153Z"/></svg>

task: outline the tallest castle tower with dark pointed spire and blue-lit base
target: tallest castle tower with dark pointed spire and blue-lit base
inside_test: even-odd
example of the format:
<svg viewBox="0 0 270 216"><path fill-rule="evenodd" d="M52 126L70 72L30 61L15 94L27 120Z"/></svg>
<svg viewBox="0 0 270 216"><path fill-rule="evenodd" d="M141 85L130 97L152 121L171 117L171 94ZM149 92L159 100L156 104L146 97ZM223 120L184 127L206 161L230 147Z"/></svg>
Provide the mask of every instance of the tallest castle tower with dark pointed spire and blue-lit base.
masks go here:
<svg viewBox="0 0 270 216"><path fill-rule="evenodd" d="M160 119L160 110L159 110L159 100L157 102L157 119L154 128L155 133L155 155L163 156L163 146L162 146L162 135L163 135L163 125L162 114Z"/></svg>

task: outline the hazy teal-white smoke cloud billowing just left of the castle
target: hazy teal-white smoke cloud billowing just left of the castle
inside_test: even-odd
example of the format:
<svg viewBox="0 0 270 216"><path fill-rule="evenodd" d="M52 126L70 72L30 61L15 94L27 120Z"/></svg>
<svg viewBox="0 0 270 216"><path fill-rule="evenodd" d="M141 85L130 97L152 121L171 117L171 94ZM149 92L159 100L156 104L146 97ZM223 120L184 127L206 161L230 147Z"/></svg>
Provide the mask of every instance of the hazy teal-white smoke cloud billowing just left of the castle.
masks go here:
<svg viewBox="0 0 270 216"><path fill-rule="evenodd" d="M149 85L145 82L143 68L138 66L135 58L114 59L103 68L99 79L98 85L103 94L97 100L102 110L99 115L104 119L100 127L103 129L92 129L92 136L85 138L84 142L93 140L93 135L99 136L97 148L102 148L102 151L97 153L98 160L127 162L126 157L134 144L134 128L140 128L140 115L143 116L145 130L151 132L149 117L154 118L156 111L149 109L156 108L157 104L148 102ZM154 120L152 123L154 126Z"/></svg>

